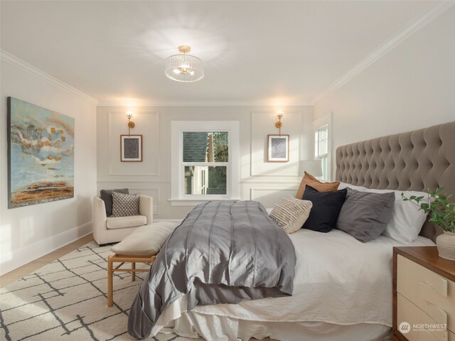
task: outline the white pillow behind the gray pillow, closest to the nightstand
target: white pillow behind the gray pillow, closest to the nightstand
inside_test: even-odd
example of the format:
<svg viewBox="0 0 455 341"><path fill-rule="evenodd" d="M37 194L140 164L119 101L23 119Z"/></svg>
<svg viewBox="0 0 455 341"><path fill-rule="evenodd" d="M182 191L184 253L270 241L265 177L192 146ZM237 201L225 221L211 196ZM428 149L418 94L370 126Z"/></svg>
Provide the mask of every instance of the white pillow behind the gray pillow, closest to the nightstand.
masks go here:
<svg viewBox="0 0 455 341"><path fill-rule="evenodd" d="M414 205L410 201L403 201L401 193L406 197L415 195L417 197L424 196L428 197L428 193L416 192L412 190L375 190L367 189L367 192L371 193L395 193L395 203L393 205L392 219L382 232L385 236L402 242L404 244L410 244L419 237L420 230L427 220L427 213L420 210L419 207ZM427 199L424 199L427 200Z"/></svg>

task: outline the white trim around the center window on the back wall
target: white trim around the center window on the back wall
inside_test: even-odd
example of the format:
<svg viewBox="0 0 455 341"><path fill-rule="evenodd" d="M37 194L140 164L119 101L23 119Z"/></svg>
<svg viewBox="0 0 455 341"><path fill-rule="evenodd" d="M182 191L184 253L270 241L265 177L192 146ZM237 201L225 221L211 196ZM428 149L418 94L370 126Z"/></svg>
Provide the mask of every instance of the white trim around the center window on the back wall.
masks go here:
<svg viewBox="0 0 455 341"><path fill-rule="evenodd" d="M182 195L183 131L228 131L229 163L226 195ZM207 200L240 199L240 124L239 121L171 121L171 205L193 206ZM220 163L224 166L225 163ZM205 166L210 166L205 164Z"/></svg>

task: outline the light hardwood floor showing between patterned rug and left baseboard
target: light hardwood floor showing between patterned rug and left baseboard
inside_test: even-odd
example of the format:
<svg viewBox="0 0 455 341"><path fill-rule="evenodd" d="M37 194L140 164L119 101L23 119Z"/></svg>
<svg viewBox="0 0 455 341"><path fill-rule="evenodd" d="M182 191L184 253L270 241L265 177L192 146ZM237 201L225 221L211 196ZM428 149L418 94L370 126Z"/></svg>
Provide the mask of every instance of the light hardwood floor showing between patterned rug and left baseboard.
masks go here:
<svg viewBox="0 0 455 341"><path fill-rule="evenodd" d="M3 276L0 276L0 288L7 286L9 283L13 283L14 281L17 281L19 278L22 278L23 276L27 276L28 274L31 274L33 271L36 271L37 269L40 269L42 266L45 266L46 264L49 264L52 261L55 261L55 259L58 259L61 256L65 256L65 254L69 254L71 251L74 251L78 247L82 247L82 245L85 245L88 242L91 242L92 240L93 240L93 234L91 234L91 233L87 234L87 236L77 239L73 243L65 245L64 247L60 247L60 249L50 252L50 254L46 254L45 256L42 256L41 258L31 261L30 263L23 265L20 268L9 272L8 274L4 274ZM251 340L256 340L256 339L251 339ZM265 339L258 340L258 341L275 341L275 340L269 339L269 337L267 337Z"/></svg>

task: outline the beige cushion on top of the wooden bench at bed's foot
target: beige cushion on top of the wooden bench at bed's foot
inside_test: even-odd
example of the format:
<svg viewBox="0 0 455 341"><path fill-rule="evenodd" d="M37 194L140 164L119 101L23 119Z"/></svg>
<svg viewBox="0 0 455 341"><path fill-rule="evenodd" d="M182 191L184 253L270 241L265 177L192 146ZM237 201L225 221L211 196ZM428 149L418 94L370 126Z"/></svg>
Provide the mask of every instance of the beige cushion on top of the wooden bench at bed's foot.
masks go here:
<svg viewBox="0 0 455 341"><path fill-rule="evenodd" d="M149 256L158 254L169 234L179 225L178 222L155 222L137 228L122 242L115 244L111 251L125 256Z"/></svg>

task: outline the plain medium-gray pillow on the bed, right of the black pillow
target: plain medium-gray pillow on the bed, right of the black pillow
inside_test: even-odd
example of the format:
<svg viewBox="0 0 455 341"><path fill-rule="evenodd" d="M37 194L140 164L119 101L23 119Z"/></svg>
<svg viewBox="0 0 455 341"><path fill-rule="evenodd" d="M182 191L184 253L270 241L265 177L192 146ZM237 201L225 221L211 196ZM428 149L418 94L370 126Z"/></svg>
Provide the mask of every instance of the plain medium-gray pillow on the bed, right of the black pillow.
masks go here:
<svg viewBox="0 0 455 341"><path fill-rule="evenodd" d="M359 192L348 188L348 195L341 207L336 228L360 242L376 239L385 231L392 219L395 193Z"/></svg>

